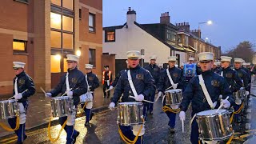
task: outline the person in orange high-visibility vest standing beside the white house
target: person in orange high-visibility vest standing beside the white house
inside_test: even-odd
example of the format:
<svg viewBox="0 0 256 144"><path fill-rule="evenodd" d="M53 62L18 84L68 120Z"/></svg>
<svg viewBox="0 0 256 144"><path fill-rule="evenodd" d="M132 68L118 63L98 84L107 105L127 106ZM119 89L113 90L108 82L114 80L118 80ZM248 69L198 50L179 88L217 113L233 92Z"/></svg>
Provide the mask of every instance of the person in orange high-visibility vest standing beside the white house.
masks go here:
<svg viewBox="0 0 256 144"><path fill-rule="evenodd" d="M102 85L103 85L103 94L104 97L106 98L106 93L107 93L107 98L110 98L110 91L107 91L110 89L110 85L112 83L112 72L110 71L110 66L104 66L104 71L102 72Z"/></svg>

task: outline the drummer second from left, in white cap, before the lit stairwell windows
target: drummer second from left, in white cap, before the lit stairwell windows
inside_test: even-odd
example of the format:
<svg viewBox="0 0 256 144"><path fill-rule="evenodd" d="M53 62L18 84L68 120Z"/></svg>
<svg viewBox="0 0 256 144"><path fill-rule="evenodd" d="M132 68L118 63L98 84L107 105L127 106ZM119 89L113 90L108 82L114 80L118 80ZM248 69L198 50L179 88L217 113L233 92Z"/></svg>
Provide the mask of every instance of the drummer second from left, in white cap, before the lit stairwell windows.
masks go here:
<svg viewBox="0 0 256 144"><path fill-rule="evenodd" d="M80 101L79 96L86 94L86 78L82 71L78 70L79 57L73 54L66 54L67 57L67 73L64 74L58 83L58 86L46 93L46 97L56 97L58 94L65 94L74 99L74 110L76 111ZM66 131L66 143L75 143L79 135L77 130L74 130L75 113L58 119L59 124L63 125L66 122L64 130Z"/></svg>

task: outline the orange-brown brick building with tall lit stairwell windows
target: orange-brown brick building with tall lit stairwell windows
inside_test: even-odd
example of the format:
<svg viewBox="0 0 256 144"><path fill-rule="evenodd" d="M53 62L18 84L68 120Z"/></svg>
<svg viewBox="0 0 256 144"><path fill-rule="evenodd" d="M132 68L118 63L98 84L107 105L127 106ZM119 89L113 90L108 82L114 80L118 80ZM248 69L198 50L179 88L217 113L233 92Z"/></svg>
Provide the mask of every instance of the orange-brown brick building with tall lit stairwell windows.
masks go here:
<svg viewBox="0 0 256 144"><path fill-rule="evenodd" d="M102 73L102 0L2 0L0 95L11 94L12 62L26 62L37 90L50 90L66 72L66 54L81 55L79 69Z"/></svg>

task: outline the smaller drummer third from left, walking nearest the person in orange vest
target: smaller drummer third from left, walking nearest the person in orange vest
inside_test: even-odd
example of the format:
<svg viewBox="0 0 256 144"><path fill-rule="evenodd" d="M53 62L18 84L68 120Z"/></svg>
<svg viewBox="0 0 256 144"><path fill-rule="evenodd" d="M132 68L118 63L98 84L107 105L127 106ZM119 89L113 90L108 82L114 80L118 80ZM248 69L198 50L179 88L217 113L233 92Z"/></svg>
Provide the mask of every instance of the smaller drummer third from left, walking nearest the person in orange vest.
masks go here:
<svg viewBox="0 0 256 144"><path fill-rule="evenodd" d="M97 78L96 74L94 74L92 72L93 67L94 67L94 65L86 64L86 75L85 75L85 78L86 78L86 80L88 82L88 91L87 92L92 94L92 96L94 97L94 90L98 88L99 81L98 81L98 78ZM81 106L83 107L84 103L82 103ZM89 121L94 116L94 113L91 113L91 108L92 107L93 107L93 101L92 102L88 102L86 104L86 107L84 108L84 111L86 113L86 123L85 123L85 126L90 126Z"/></svg>

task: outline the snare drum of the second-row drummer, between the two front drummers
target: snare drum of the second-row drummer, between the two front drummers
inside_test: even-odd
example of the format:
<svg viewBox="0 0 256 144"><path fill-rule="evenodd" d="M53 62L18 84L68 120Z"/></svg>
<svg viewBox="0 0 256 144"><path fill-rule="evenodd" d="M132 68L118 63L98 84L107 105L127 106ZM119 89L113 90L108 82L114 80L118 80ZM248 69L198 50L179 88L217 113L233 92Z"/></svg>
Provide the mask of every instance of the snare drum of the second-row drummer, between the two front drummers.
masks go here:
<svg viewBox="0 0 256 144"><path fill-rule="evenodd" d="M179 105L182 102L182 89L166 90L166 106Z"/></svg>

